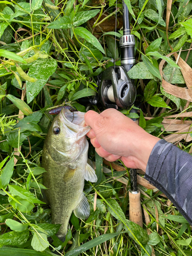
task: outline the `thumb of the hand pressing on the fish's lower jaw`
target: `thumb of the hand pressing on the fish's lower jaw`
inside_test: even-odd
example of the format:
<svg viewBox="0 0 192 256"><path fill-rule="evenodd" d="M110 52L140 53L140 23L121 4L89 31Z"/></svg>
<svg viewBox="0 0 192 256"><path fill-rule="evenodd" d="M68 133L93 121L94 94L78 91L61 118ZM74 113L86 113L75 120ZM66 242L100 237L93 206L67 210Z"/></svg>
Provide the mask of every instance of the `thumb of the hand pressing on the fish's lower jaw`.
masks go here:
<svg viewBox="0 0 192 256"><path fill-rule="evenodd" d="M99 130L102 130L102 128L106 124L106 119L99 115L97 112L92 110L88 111L84 115L84 120L86 121L87 125L91 126L95 134L97 134Z"/></svg>

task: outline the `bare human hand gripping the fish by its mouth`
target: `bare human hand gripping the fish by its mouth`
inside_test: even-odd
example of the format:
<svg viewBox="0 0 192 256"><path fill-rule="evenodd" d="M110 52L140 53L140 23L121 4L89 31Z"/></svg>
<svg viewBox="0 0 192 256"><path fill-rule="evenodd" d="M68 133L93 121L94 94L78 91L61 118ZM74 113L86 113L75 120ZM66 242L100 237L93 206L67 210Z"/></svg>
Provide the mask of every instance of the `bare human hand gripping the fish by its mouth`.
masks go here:
<svg viewBox="0 0 192 256"><path fill-rule="evenodd" d="M87 136L99 156L111 162L121 159L125 166L145 171L159 138L148 134L115 109L107 109L100 114L88 111L84 119L92 127Z"/></svg>

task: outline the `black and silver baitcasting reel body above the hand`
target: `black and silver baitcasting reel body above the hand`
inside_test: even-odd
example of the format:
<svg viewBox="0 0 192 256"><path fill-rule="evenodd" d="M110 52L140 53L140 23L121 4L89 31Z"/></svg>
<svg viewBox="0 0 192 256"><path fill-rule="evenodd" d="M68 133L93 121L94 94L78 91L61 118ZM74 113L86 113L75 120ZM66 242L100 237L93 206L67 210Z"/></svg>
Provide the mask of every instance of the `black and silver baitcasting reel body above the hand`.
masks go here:
<svg viewBox="0 0 192 256"><path fill-rule="evenodd" d="M104 108L129 109L136 98L136 88L122 66L112 66L101 76L99 97Z"/></svg>

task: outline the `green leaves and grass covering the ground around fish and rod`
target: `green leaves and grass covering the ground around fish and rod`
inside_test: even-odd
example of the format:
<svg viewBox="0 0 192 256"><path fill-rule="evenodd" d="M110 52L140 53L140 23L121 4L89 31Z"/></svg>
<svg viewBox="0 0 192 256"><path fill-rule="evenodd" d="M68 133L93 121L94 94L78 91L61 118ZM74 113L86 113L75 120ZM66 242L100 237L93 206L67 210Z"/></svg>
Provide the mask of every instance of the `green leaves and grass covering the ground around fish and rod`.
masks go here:
<svg viewBox="0 0 192 256"><path fill-rule="evenodd" d="M125 0L136 38L138 114L148 133L192 153L192 3ZM96 184L85 183L91 215L73 214L66 241L56 236L42 202L41 154L53 120L49 110L97 94L97 77L120 65L122 2L0 1L0 255L190 255L191 226L157 188L139 189L143 228L129 221L129 169L99 157L90 144ZM116 20L117 17L117 20ZM90 106L97 112L102 105Z"/></svg>

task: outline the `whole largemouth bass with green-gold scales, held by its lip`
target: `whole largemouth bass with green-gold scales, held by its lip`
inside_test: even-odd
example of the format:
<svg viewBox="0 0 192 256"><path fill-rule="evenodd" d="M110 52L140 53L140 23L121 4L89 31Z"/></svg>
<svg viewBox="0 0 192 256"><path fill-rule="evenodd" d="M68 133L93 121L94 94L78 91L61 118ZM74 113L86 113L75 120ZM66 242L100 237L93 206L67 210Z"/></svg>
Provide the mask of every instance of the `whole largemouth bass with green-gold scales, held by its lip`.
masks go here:
<svg viewBox="0 0 192 256"><path fill-rule="evenodd" d="M90 215L83 194L84 179L97 181L94 169L87 163L86 134L90 127L84 127L84 114L61 109L49 129L42 152L42 167L47 171L43 177L48 188L45 194L51 206L52 223L61 224L57 233L61 241L65 241L73 211L80 219Z"/></svg>

